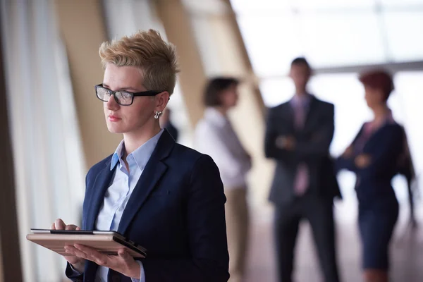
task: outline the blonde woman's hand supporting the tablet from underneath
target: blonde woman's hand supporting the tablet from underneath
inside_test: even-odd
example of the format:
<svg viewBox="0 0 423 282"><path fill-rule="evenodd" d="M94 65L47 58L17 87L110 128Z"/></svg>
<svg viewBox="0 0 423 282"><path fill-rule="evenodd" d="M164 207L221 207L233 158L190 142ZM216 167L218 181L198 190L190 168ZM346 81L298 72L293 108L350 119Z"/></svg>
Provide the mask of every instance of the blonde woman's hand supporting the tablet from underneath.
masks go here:
<svg viewBox="0 0 423 282"><path fill-rule="evenodd" d="M65 250L68 254L74 255L80 259L88 259L98 265L113 269L130 278L140 279L140 264L135 262L125 248L118 250L118 255L104 255L92 247L75 244L73 246L66 246Z"/></svg>

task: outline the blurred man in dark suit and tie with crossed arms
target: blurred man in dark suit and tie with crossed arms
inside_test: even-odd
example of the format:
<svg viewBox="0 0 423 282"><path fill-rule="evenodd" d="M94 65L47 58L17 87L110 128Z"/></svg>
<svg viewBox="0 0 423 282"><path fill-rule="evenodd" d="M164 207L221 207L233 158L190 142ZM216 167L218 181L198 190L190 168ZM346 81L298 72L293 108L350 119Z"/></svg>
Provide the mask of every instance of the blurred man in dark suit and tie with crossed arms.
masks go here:
<svg viewBox="0 0 423 282"><path fill-rule="evenodd" d="M292 281L295 240L301 219L312 227L326 282L338 282L333 197L340 196L329 157L333 137L333 104L307 92L311 68L293 60L294 97L269 109L266 157L276 160L269 200L275 205L275 240L279 281Z"/></svg>

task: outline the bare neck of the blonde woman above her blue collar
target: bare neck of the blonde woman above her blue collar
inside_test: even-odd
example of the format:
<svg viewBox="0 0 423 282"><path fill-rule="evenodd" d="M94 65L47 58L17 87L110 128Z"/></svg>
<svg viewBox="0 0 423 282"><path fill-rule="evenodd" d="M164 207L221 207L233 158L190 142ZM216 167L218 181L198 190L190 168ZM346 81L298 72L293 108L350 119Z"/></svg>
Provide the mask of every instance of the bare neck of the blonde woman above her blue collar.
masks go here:
<svg viewBox="0 0 423 282"><path fill-rule="evenodd" d="M157 135L161 130L159 121L154 121L152 125L145 124L142 128L131 133L123 133L125 142L125 157L141 147L145 142Z"/></svg>

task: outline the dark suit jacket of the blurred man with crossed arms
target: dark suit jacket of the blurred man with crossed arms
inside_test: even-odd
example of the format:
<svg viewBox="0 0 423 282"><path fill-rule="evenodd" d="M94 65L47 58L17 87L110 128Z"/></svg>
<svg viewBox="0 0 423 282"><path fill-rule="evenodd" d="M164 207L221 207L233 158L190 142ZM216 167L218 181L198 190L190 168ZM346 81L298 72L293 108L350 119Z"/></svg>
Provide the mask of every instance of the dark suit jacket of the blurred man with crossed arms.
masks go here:
<svg viewBox="0 0 423 282"><path fill-rule="evenodd" d="M306 164L309 170L309 193L329 198L341 197L333 161L329 157L333 114L333 104L312 96L305 125L302 130L295 130L294 109L290 102L269 109L264 152L266 157L276 160L269 195L271 202L283 204L295 199L293 184L300 163ZM295 149L289 151L276 147L276 138L288 135L295 138Z"/></svg>

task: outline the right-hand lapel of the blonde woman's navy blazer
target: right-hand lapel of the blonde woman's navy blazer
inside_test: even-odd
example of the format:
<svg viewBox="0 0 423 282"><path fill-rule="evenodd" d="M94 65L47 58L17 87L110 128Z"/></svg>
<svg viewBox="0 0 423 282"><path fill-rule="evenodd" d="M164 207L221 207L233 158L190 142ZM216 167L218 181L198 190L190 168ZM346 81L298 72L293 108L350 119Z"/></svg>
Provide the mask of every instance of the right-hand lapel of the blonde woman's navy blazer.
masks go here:
<svg viewBox="0 0 423 282"><path fill-rule="evenodd" d="M118 233L125 234L135 214L141 209L142 204L145 203L149 194L154 190L166 172L167 166L162 160L168 157L174 145L175 140L173 140L167 130L164 130L159 142L157 142L152 157L150 157L144 171L142 171L140 180L138 180L128 204L126 204L121 222L119 223Z"/></svg>

